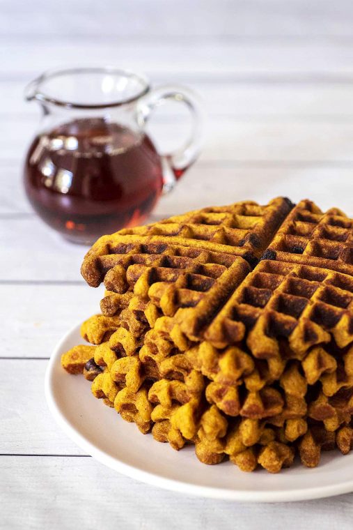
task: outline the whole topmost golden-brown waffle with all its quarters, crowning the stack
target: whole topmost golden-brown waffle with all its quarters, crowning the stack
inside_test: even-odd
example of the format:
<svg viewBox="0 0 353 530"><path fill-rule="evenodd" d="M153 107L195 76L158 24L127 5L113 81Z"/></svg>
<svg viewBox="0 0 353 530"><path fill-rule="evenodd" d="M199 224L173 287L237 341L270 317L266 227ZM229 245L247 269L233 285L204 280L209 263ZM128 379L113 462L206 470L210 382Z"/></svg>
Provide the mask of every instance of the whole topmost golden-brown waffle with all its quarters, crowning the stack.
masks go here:
<svg viewBox="0 0 353 530"><path fill-rule="evenodd" d="M133 289L135 295L150 300L162 315L173 317L169 330L191 341L208 340L222 348L243 340L250 328L248 346L261 358L267 350L276 354L276 341L266 332L271 336L270 330L276 329L298 355L331 337L345 347L352 340L353 325L352 220L338 209L323 213L308 199L292 211L290 206L281 198L267 206L242 202L124 229L97 241L83 270L91 285L106 275L112 292ZM237 241L242 247L214 241L224 234L211 233L210 227L219 229L221 222L237 232L239 217L246 229L251 219L251 232ZM203 239L196 238L194 227L198 237L204 233ZM251 272L243 257L244 252L255 257L255 242L269 246ZM115 283L113 271L119 280ZM111 299L116 304L114 295L104 304Z"/></svg>

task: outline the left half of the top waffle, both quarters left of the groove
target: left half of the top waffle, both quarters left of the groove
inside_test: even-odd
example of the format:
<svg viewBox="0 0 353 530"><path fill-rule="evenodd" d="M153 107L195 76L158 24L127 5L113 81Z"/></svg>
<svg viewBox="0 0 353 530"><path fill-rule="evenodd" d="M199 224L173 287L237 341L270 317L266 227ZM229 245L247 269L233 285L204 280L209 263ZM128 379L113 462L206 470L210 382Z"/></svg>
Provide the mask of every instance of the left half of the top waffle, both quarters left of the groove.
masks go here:
<svg viewBox="0 0 353 530"><path fill-rule="evenodd" d="M99 285L104 278L110 290L101 302L105 316L116 315L126 303L128 289L133 289L134 301L139 300L140 305L147 301L144 312L150 326L159 313L173 316L178 308L192 308L194 335L198 338L196 328L212 321L249 273L249 264L238 255L254 264L256 255L261 254L291 206L287 199L274 199L268 206L239 203L191 212L148 227L125 229L111 236L113 243L103 243L104 238L97 241L84 259L82 273L90 285ZM234 232L230 242L219 235L225 229ZM235 233L242 239L236 242ZM162 239L150 244L150 238L157 234ZM144 239L139 245L132 245L132 235ZM129 245L113 246L126 238ZM223 241L223 248L219 248L219 241ZM200 248L206 242L212 250ZM212 247L213 243L216 246ZM108 247L111 254L107 256L104 252Z"/></svg>

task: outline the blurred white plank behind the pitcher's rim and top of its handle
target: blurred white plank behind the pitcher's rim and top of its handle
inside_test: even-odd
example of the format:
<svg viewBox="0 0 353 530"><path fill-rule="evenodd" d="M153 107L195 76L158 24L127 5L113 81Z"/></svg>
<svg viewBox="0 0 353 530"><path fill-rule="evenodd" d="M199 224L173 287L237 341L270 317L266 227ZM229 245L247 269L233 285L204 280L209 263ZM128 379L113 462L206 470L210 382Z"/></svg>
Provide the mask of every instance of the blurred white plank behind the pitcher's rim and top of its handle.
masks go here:
<svg viewBox="0 0 353 530"><path fill-rule="evenodd" d="M29 80L29 79L28 79ZM168 82L164 74L152 79L153 85ZM352 121L353 98L350 83L249 83L188 81L182 75L172 79L187 84L198 93L207 114L226 114L251 121ZM23 99L24 81L0 81L0 119L26 119L39 123L39 107ZM180 106L166 105L153 119L178 119Z"/></svg>

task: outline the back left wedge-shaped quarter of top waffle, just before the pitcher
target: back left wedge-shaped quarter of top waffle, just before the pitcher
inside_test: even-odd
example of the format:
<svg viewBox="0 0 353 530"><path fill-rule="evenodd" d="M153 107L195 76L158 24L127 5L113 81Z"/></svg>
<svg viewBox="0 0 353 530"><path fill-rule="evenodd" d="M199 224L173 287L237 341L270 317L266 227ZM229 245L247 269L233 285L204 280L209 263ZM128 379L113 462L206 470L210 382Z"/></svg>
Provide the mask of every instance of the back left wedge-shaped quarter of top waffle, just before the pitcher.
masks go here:
<svg viewBox="0 0 353 530"><path fill-rule="evenodd" d="M254 265L266 250L292 203L278 197L265 206L244 201L230 206L210 207L102 236L88 250L81 274L88 285L97 287L109 268L129 266L127 256L148 253L146 245L159 255L167 249L184 255L194 252L235 255ZM180 249L180 251L178 250Z"/></svg>

